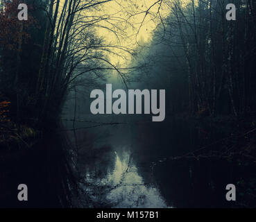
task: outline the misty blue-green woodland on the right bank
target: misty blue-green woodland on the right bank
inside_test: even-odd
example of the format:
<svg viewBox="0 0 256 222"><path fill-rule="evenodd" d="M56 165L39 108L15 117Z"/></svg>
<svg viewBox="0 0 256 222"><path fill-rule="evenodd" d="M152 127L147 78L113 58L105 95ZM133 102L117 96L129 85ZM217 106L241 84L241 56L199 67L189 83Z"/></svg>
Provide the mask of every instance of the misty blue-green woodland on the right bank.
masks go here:
<svg viewBox="0 0 256 222"><path fill-rule="evenodd" d="M167 3L170 15L142 50L148 68L138 76L167 88L169 112L255 114L255 2L232 1L236 21L225 18L228 3Z"/></svg>

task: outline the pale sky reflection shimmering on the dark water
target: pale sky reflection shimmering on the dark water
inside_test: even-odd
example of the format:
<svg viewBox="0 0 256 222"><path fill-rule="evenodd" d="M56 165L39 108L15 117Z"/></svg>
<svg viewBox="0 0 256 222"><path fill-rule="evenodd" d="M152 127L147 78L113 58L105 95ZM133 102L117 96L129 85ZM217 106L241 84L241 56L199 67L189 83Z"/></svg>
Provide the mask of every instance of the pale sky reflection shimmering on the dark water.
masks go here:
<svg viewBox="0 0 256 222"><path fill-rule="evenodd" d="M95 187L102 191L98 196L92 195L94 201L108 203L110 207L168 207L159 189L144 183L128 151L123 151L121 155L114 151L114 155L114 169L108 169L105 178L92 178L92 173L86 173L87 183L94 183L94 193Z"/></svg>

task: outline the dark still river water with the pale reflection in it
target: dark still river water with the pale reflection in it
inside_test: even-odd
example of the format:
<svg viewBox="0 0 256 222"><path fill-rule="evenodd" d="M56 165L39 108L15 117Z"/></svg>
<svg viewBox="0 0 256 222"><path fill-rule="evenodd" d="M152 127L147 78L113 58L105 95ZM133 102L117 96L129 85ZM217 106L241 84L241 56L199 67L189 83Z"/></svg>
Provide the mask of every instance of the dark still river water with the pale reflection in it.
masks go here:
<svg viewBox="0 0 256 222"><path fill-rule="evenodd" d="M229 137L236 128L171 117L161 123L139 116L79 118L126 122L92 128L88 127L97 123L75 125L81 128L76 138L81 186L87 194L80 201L84 207L236 207L239 196L236 203L228 202L225 187L236 184L246 172L252 174L227 160L170 158ZM66 123L67 128L71 125Z"/></svg>

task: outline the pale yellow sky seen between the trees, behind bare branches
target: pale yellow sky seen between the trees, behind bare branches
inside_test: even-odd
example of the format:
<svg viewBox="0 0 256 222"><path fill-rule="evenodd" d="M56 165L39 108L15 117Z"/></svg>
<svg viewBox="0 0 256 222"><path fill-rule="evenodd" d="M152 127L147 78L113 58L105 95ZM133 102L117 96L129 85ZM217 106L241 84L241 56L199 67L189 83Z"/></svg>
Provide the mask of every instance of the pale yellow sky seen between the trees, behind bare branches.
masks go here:
<svg viewBox="0 0 256 222"><path fill-rule="evenodd" d="M180 1L187 2L190 0ZM89 1L84 1L84 3L86 2L88 3ZM97 9L84 10L82 13L84 13L85 17L99 16L108 18L105 22L96 23L98 27L95 28L96 33L103 37L107 45L126 46L128 49L136 49L138 43L146 46L151 41L152 31L157 24L160 24L159 15L161 15L162 19L167 17L169 13L167 4L170 2L171 0L162 0L160 5L158 0L112 0L108 3L101 3ZM61 0L61 4L63 3L64 0ZM148 8L150 8L149 13L144 19ZM159 14L155 17L157 12ZM116 30L113 30L113 26ZM117 35L114 35L108 28L117 33ZM113 48L112 51L119 53L119 55L121 54L121 56L117 56L114 53L108 53L108 58L113 65L121 65L122 67L129 65L131 59L129 53Z"/></svg>

